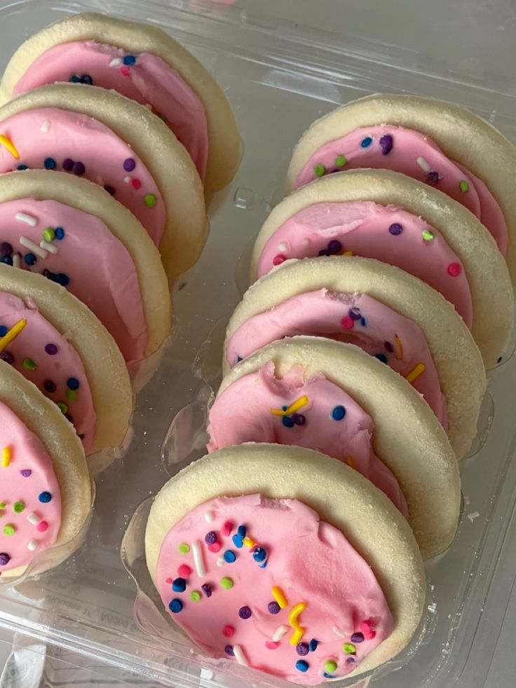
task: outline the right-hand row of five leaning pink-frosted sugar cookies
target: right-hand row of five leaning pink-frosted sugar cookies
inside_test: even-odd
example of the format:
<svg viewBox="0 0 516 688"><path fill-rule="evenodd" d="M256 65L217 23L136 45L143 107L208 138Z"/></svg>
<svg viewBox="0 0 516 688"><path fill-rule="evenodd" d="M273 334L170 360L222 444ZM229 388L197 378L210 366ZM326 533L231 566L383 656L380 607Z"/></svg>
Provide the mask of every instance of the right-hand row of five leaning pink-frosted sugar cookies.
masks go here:
<svg viewBox="0 0 516 688"><path fill-rule="evenodd" d="M208 456L147 524L163 604L208 654L319 684L416 633L510 353L515 170L492 126L419 97L301 137L226 331Z"/></svg>

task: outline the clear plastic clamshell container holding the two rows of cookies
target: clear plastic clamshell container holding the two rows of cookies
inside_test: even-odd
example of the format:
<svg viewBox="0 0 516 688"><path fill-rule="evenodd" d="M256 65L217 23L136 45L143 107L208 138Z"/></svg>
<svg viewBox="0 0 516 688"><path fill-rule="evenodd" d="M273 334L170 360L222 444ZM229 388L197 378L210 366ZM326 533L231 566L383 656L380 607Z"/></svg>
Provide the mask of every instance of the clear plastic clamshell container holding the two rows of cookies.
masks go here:
<svg viewBox="0 0 516 688"><path fill-rule="evenodd" d="M201 260L177 283L177 335L137 398L133 443L125 457L96 478L95 512L85 544L37 579L16 588L0 586L0 640L4 642L6 633L18 633L18 638L30 639L31 652L36 654L34 647L41 642L55 645L67 666L76 663L90 672L85 680L91 683L98 670L109 677L109 684L118 680L130 686L287 686L229 661L205 659L184 638L171 635L165 617L154 615L149 597L153 593L144 584L137 536L148 502L131 523L130 546L125 541L125 560L140 583L138 597L133 577L121 561L123 534L140 504L168 479L161 454L165 437L166 457L170 438L178 437L177 429L168 433L172 419L197 402L200 393L201 402L205 400L205 382L193 365L196 352L215 323L226 318L240 299L236 265L271 206L283 196L287 163L301 132L339 103L375 91L407 91L463 104L516 140L515 83L502 71L488 79L489 70L470 71L468 65L454 70L423 59L416 48L372 43L358 35L344 41L342 33L336 36L271 20L259 9L246 14L237 7L179 0L4 4L0 6L1 63L37 29L67 12L92 8L155 22L192 50L226 91L245 154L236 180L212 209L210 240ZM475 10L481 8L475 5ZM203 354L204 371L206 361L211 361L210 379L217 377L213 351L208 346ZM494 417L484 446L461 465L461 524L447 555L428 567L428 609L421 634L410 652L380 668L370 685L484 685L516 579L515 384L513 357L491 377ZM181 421L185 446L191 443L191 430L198 428L196 413L202 413L202 403L190 420Z"/></svg>

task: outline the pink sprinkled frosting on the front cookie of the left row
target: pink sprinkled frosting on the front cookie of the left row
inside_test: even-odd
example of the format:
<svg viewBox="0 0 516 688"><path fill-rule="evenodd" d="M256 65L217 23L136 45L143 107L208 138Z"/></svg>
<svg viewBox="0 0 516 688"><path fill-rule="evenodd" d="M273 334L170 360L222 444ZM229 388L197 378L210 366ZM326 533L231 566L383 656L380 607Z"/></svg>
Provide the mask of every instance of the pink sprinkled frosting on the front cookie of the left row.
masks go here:
<svg viewBox="0 0 516 688"><path fill-rule="evenodd" d="M53 546L61 493L43 443L0 402L0 574Z"/></svg>

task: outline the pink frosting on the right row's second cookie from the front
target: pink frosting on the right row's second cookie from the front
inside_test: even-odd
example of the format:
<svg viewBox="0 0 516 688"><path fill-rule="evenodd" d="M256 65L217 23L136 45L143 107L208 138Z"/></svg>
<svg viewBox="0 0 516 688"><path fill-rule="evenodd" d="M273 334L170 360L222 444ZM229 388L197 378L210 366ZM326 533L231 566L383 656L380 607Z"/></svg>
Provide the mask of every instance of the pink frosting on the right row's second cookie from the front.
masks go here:
<svg viewBox="0 0 516 688"><path fill-rule="evenodd" d="M224 389L210 409L209 423L208 452L244 442L315 449L356 468L408 517L398 480L374 454L371 417L322 373L304 379L303 367L296 365L279 379L269 361Z"/></svg>

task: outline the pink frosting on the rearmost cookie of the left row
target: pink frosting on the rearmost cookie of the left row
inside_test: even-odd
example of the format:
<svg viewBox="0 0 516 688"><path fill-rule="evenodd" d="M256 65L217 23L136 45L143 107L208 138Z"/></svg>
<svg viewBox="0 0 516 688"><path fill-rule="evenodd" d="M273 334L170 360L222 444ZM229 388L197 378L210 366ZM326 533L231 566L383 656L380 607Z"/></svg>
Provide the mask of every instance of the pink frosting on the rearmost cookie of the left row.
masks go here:
<svg viewBox="0 0 516 688"><path fill-rule="evenodd" d="M123 59L134 64L125 65ZM62 43L39 56L13 88L13 95L56 81L89 76L94 86L111 88L151 105L189 152L204 180L208 161L208 125L204 107L182 76L149 53L128 55L95 41ZM88 83L91 83L86 80Z"/></svg>

